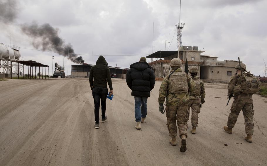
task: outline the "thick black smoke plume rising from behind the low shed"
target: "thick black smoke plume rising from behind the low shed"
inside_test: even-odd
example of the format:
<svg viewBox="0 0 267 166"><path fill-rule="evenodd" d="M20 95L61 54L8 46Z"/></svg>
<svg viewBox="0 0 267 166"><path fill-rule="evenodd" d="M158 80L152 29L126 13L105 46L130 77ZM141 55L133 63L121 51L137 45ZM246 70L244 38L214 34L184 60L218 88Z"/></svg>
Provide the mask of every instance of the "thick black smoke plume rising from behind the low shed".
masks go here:
<svg viewBox="0 0 267 166"><path fill-rule="evenodd" d="M40 26L35 22L30 25L23 24L21 30L34 39L32 44L36 49L42 47L43 51L58 52L74 63L82 64L85 62L81 56L77 56L77 54L74 53L70 43L65 44L65 41L58 36L59 30L52 27L50 24L45 23Z"/></svg>

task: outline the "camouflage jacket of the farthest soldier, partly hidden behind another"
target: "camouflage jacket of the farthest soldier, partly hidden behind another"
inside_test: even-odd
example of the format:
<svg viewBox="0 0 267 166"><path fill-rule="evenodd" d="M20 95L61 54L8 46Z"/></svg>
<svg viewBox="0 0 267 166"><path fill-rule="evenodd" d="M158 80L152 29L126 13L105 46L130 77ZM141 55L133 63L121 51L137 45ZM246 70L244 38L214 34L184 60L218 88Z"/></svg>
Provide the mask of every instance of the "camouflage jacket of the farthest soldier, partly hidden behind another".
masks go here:
<svg viewBox="0 0 267 166"><path fill-rule="evenodd" d="M204 88L204 83L199 79L198 76L192 78L193 81L196 84L195 90L194 91L190 91L190 95L189 95L189 99L202 99L204 100L206 93L205 93L205 88ZM200 84L198 84L198 82ZM200 91L200 95L198 95L198 92L196 91Z"/></svg>

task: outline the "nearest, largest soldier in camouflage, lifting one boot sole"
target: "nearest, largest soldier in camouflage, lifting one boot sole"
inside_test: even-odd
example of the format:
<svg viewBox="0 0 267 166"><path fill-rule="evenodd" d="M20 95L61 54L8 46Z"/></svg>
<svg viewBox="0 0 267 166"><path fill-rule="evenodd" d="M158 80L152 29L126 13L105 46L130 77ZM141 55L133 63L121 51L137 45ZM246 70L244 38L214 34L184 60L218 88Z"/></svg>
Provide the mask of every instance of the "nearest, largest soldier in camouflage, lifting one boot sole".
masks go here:
<svg viewBox="0 0 267 166"><path fill-rule="evenodd" d="M171 72L165 77L159 89L159 111L163 114L163 103L166 98L166 117L170 143L176 146L177 126L179 129L179 136L182 139L180 151L186 151L187 138L187 121L189 118L188 104L189 104L189 90L195 89L195 83L185 73L182 72L182 61L179 58L174 58L170 62L172 68Z"/></svg>

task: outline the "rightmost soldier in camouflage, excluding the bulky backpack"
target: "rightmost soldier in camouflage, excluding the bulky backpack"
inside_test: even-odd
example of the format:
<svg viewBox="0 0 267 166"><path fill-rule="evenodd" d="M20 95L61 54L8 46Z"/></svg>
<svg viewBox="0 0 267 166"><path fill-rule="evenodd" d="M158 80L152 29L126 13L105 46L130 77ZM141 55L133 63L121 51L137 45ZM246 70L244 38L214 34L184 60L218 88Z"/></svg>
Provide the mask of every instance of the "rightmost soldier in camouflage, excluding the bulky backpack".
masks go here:
<svg viewBox="0 0 267 166"><path fill-rule="evenodd" d="M234 127L237 117L240 113L240 111L243 111L244 119L245 119L245 130L247 136L245 137L245 140L248 142L252 142L252 135L253 135L253 115L254 115L254 110L253 110L253 99L252 99L252 94L245 94L242 93L243 91L239 92L239 94L235 94L236 87L238 87L241 84L241 72L242 75L245 74L246 71L246 65L244 63L241 63L241 70L240 71L240 66L239 64L236 65L236 74L233 75L229 81L228 84L228 95L235 95L234 96L234 101L231 106L231 113L229 114L228 121L227 121L227 126L224 126L224 130L232 134L232 128Z"/></svg>

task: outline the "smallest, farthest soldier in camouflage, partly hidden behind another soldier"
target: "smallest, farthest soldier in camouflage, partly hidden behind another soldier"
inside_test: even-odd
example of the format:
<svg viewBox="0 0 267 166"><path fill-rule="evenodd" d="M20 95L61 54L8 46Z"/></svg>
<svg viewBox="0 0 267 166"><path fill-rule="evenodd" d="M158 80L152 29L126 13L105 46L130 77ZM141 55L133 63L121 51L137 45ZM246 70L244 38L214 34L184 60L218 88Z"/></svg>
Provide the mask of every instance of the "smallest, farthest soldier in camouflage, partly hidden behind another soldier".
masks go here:
<svg viewBox="0 0 267 166"><path fill-rule="evenodd" d="M194 91L190 92L189 96L189 105L188 105L188 111L192 111L192 116L191 116L191 124L192 124L192 129L190 132L192 134L196 134L196 127L198 124L198 114L200 113L200 108L201 105L205 102L205 88L204 88L204 83L199 79L197 76L198 73L198 68L196 66L192 66L189 69L190 75L193 79L193 81L196 84L196 88Z"/></svg>

